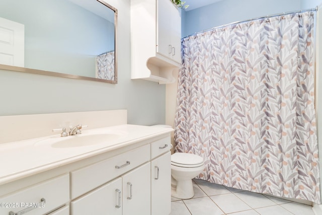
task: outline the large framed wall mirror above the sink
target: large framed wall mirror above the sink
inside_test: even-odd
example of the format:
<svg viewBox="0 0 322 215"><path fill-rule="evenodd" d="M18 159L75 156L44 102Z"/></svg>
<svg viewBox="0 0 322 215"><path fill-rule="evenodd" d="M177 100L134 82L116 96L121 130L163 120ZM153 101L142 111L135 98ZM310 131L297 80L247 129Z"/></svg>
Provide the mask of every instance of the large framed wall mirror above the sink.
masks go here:
<svg viewBox="0 0 322 215"><path fill-rule="evenodd" d="M116 84L116 27L104 0L1 0L0 69Z"/></svg>

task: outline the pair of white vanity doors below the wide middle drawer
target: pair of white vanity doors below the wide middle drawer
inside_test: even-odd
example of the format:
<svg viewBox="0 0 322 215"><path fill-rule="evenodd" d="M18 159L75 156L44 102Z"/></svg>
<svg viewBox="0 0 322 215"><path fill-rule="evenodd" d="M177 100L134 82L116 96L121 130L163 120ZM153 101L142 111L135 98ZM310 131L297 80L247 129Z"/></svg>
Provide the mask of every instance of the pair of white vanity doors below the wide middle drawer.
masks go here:
<svg viewBox="0 0 322 215"><path fill-rule="evenodd" d="M150 214L150 163L70 202L72 215Z"/></svg>

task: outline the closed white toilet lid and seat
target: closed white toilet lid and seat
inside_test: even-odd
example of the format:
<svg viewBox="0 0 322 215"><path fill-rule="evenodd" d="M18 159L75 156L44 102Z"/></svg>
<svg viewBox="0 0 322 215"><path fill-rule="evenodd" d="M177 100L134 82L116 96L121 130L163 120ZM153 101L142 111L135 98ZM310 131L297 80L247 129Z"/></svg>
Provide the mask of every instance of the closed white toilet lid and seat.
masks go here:
<svg viewBox="0 0 322 215"><path fill-rule="evenodd" d="M171 156L171 164L178 167L199 167L203 165L203 158L190 153L175 153Z"/></svg>

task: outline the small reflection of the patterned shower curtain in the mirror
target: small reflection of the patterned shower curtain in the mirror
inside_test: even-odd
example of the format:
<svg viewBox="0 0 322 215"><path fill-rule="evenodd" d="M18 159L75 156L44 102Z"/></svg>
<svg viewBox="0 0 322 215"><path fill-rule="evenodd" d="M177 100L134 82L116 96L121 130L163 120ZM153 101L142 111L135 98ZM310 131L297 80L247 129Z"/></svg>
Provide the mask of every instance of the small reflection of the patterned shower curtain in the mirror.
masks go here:
<svg viewBox="0 0 322 215"><path fill-rule="evenodd" d="M115 80L115 51L106 52L96 57L96 78Z"/></svg>

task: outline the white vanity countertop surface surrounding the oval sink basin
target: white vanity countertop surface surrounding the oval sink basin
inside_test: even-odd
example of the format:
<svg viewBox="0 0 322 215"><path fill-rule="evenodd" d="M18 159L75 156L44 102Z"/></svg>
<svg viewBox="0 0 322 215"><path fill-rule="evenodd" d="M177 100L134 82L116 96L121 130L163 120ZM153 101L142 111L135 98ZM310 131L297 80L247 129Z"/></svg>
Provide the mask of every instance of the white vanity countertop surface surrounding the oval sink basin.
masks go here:
<svg viewBox="0 0 322 215"><path fill-rule="evenodd" d="M171 131L173 131L172 128L125 124L96 129L83 128L82 132L85 135L104 132L121 134L120 138L98 145L52 148L50 144L37 144L37 142L39 143L39 141L48 138L73 138L60 137L60 134L0 144L0 185L120 149L148 138L170 133Z"/></svg>

